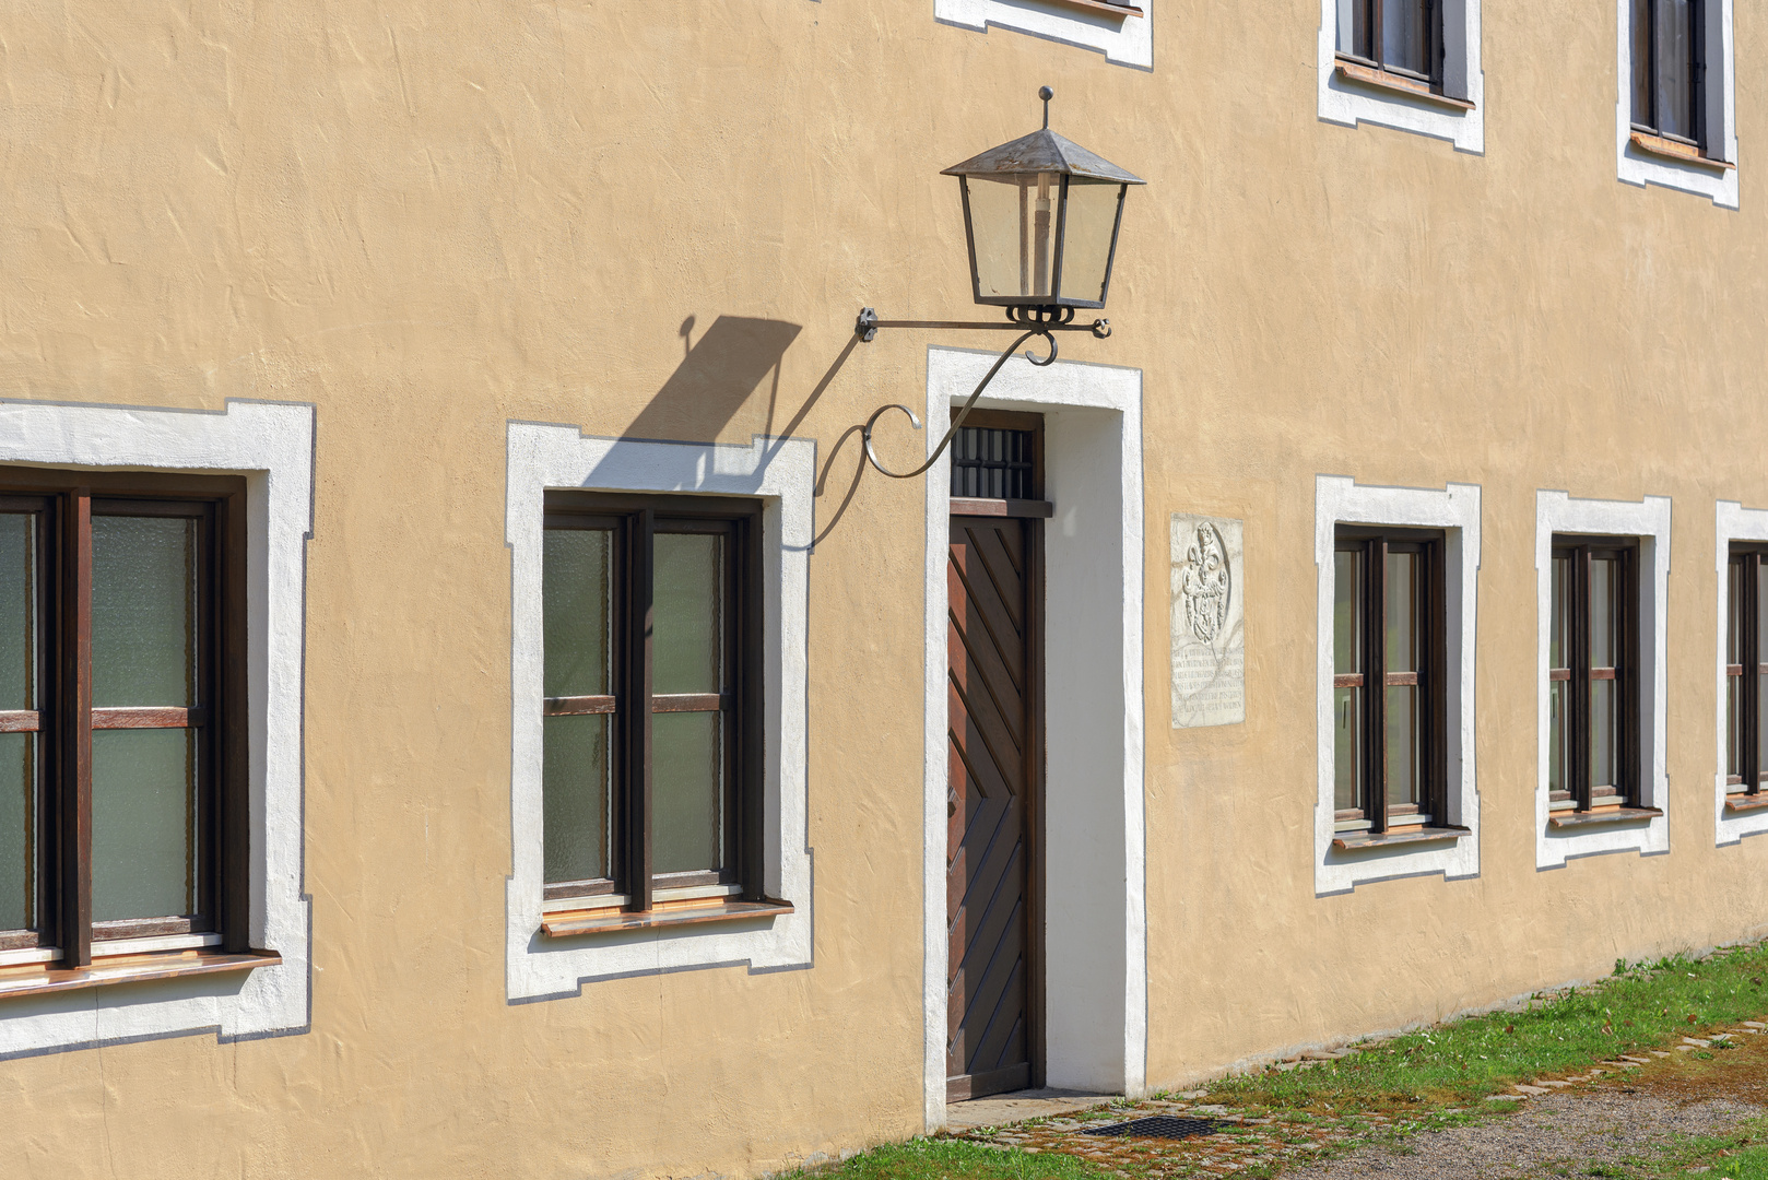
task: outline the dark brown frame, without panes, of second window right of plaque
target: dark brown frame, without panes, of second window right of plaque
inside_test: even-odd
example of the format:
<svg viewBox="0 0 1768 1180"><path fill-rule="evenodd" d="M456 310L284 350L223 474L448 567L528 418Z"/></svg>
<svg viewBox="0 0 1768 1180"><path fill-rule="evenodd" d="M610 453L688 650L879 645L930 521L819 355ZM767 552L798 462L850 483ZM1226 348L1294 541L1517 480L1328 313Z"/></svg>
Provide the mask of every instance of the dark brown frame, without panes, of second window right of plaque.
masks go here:
<svg viewBox="0 0 1768 1180"><path fill-rule="evenodd" d="M1552 538L1552 548L1549 561L1558 561L1561 557L1570 559L1570 582L1566 584L1566 619L1565 619L1565 647L1566 663L1563 667L1547 669L1547 681L1566 681L1570 685L1570 702L1566 706L1565 716L1561 718L1561 734L1566 748L1566 766L1565 766L1565 791L1572 801L1572 816L1558 821L1563 826L1568 819L1577 821L1577 817L1604 816L1598 808L1619 808L1619 814L1641 814L1651 808L1641 807L1642 798L1642 762L1641 762L1641 692L1639 669L1641 669L1641 651L1639 651L1639 628L1641 628L1641 548L1639 538L1634 536L1582 536L1582 534L1556 534ZM1591 605L1589 605L1589 563L1591 559L1618 559L1621 584L1616 587L1616 626L1619 632L1616 658L1619 660L1612 667L1593 667L1589 655L1589 623L1591 623ZM1549 566L1551 579L1551 566ZM1549 610L1552 610L1549 601ZM1552 619L1549 617L1549 628ZM1618 732L1618 757L1616 757L1616 787L1614 796L1602 796L1598 801L1593 796L1591 782L1591 752L1589 752L1589 709L1591 709L1591 681L1593 679L1612 679L1616 683L1616 701L1614 701L1614 725ZM1549 685L1542 686L1543 693L1549 693ZM1554 752L1549 750L1549 759ZM1549 796L1549 808L1552 803ZM1607 814L1616 814L1609 810ZM1563 812L1561 812L1563 816Z"/></svg>

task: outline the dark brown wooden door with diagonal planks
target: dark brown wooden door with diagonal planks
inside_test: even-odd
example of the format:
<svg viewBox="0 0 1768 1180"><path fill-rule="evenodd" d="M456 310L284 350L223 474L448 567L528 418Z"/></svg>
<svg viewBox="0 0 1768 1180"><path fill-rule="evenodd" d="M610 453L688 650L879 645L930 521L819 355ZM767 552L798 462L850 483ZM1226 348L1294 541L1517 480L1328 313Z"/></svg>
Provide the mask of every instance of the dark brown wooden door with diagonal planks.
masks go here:
<svg viewBox="0 0 1768 1180"><path fill-rule="evenodd" d="M953 1102L1031 1084L1034 527L1002 517L951 518L946 1092Z"/></svg>

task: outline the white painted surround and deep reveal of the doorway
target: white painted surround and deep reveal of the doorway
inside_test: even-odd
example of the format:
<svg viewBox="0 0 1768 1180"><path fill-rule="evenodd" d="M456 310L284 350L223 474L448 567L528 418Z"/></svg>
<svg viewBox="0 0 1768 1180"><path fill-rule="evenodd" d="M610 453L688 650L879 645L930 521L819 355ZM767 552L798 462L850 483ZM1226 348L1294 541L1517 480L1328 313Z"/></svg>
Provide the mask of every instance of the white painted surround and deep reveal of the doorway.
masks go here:
<svg viewBox="0 0 1768 1180"><path fill-rule="evenodd" d="M926 421L949 421L995 354L926 350ZM1043 414L1045 1077L1139 1095L1147 1084L1142 699L1142 372L1008 361L978 402ZM944 432L926 432L932 449ZM951 465L926 490L923 796L926 1127L946 1122L946 563ZM1059 623L1059 624L1057 624Z"/></svg>

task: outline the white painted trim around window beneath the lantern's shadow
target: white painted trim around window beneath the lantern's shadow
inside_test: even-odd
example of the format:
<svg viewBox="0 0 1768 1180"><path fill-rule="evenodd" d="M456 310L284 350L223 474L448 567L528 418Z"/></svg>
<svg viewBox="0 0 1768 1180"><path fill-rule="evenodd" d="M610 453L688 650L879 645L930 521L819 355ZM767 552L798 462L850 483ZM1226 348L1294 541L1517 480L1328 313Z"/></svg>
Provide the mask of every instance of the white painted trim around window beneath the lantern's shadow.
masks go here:
<svg viewBox="0 0 1768 1180"><path fill-rule="evenodd" d="M806 837L806 637L812 487L817 446L755 437L750 446L596 439L576 426L509 423L506 541L511 561L513 872L506 886L509 1000L575 996L622 975L812 962L812 863ZM698 923L555 939L545 911L541 844L541 543L548 488L748 495L762 506L762 658L766 663L764 883L796 913L732 925Z"/></svg>

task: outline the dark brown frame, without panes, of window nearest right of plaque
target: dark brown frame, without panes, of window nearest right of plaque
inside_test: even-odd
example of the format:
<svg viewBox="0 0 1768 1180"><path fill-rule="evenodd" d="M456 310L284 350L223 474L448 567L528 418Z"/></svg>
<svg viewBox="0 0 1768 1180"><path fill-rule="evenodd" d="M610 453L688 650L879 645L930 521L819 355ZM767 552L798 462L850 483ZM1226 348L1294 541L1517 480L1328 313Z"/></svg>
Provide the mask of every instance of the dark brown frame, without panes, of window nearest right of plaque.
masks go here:
<svg viewBox="0 0 1768 1180"><path fill-rule="evenodd" d="M1400 681L1390 678L1386 667L1386 554L1416 552L1423 557L1418 579L1420 621L1418 672L1404 683L1420 688L1418 770L1420 789L1416 805L1388 805L1386 782L1386 690ZM1335 823L1368 823L1368 837L1390 837L1393 828L1423 824L1425 831L1450 831L1448 824L1448 600L1446 600L1448 538L1434 529L1386 529L1376 525L1340 524L1335 531L1333 552L1358 552L1363 559L1361 614L1363 672L1333 674L1335 688L1370 690L1361 709L1358 734L1358 800L1354 808L1335 810ZM1353 683L1354 681L1354 683ZM1376 801L1381 801L1377 807ZM1444 839L1448 839L1444 835ZM1356 842L1351 835L1338 839L1340 847Z"/></svg>

